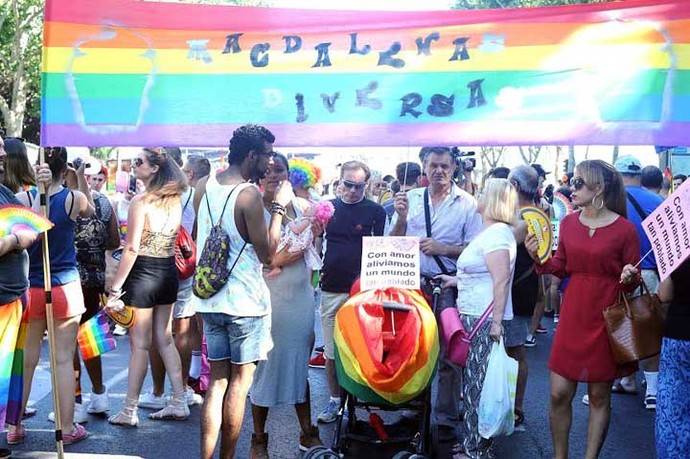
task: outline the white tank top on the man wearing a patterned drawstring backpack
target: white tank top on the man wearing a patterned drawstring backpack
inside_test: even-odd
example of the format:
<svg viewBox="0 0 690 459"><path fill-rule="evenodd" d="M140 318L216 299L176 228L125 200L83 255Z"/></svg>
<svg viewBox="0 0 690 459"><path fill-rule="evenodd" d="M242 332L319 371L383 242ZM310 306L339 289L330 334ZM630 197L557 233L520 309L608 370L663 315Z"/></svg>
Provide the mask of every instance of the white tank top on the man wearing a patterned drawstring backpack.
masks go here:
<svg viewBox="0 0 690 459"><path fill-rule="evenodd" d="M228 269L235 264L228 282L223 288L207 300L198 298L197 312L218 312L240 317L256 317L270 314L271 297L262 275L262 265L256 255L254 247L247 243L237 230L235 225L235 203L237 196L247 187L254 186L250 183L240 185L221 185L216 180L215 174L209 176L206 182L206 193L199 205L197 220L197 250L201 256L206 238L223 211L227 200L227 206L223 213L222 226L230 236L230 251L228 256ZM228 195L232 195L228 199ZM208 201L207 201L208 200ZM209 207L211 216L209 217ZM211 219L213 221L211 221ZM241 251L241 253L240 253Z"/></svg>

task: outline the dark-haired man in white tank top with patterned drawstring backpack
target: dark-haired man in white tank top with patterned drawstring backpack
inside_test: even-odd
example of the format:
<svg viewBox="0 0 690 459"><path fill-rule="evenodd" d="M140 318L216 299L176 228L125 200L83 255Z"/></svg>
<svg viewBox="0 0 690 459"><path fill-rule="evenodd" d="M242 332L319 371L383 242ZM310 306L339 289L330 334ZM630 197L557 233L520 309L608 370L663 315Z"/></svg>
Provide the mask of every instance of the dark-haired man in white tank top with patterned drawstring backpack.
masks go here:
<svg viewBox="0 0 690 459"><path fill-rule="evenodd" d="M262 266L280 242L290 182L278 186L265 220L258 182L273 156L275 137L263 126L245 125L230 139L227 169L197 184L196 311L204 321L211 381L201 414L201 457L213 457L222 430L220 457L234 457L247 393L256 363L271 340L271 300Z"/></svg>

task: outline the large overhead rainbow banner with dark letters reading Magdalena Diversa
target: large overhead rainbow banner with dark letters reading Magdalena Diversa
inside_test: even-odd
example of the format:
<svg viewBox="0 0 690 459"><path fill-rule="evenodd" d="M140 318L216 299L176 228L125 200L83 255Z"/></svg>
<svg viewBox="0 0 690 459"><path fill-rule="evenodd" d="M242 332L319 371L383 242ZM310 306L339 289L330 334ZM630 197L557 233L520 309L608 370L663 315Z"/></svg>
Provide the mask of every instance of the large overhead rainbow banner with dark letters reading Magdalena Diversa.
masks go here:
<svg viewBox="0 0 690 459"><path fill-rule="evenodd" d="M420 3L423 5L423 3ZM318 11L47 0L42 145L690 144L690 2Z"/></svg>

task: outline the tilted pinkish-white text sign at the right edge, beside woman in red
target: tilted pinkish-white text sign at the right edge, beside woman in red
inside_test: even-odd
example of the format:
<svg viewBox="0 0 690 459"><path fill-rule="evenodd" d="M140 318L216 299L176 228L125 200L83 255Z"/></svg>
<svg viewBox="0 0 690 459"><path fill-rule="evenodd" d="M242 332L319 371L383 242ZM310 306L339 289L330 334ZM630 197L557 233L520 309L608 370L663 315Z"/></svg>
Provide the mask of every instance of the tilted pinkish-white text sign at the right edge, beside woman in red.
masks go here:
<svg viewBox="0 0 690 459"><path fill-rule="evenodd" d="M642 222L663 281L690 256L690 180Z"/></svg>

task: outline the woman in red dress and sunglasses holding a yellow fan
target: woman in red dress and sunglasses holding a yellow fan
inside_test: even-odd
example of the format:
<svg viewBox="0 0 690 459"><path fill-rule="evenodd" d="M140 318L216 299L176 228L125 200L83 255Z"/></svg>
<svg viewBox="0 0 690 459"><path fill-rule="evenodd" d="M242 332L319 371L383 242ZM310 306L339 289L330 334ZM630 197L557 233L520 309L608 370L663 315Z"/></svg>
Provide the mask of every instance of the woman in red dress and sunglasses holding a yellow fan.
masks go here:
<svg viewBox="0 0 690 459"><path fill-rule="evenodd" d="M551 436L555 458L568 457L572 401L578 382L588 384L589 429L585 457L599 456L611 413L613 380L635 366L613 359L603 310L614 304L621 288L637 282L632 266L640 256L635 226L626 217L625 188L618 172L604 161L583 161L570 182L573 204L581 211L561 222L556 254L537 266L540 274L570 276L553 341L551 370ZM534 236L525 241L536 257ZM623 285L625 284L625 285Z"/></svg>

